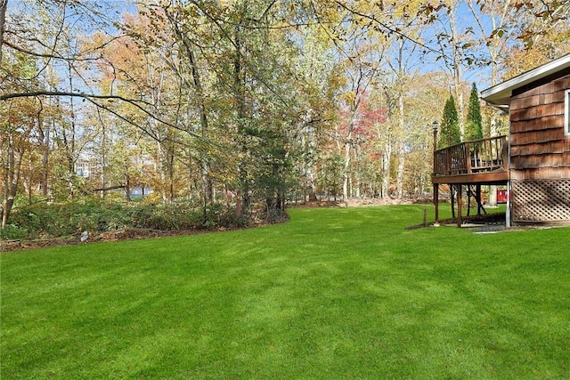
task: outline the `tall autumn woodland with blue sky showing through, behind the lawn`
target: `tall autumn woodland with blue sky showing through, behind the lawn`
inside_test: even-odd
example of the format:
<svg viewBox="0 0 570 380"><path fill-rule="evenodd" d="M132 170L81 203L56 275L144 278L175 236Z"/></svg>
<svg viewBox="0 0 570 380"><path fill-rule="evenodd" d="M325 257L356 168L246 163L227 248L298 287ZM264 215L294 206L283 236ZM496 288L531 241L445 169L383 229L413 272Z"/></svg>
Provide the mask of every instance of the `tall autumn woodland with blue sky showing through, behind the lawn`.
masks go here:
<svg viewBox="0 0 570 380"><path fill-rule="evenodd" d="M78 198L280 215L430 190L432 121L570 51L567 1L0 0L2 227ZM483 108L483 133L505 122Z"/></svg>

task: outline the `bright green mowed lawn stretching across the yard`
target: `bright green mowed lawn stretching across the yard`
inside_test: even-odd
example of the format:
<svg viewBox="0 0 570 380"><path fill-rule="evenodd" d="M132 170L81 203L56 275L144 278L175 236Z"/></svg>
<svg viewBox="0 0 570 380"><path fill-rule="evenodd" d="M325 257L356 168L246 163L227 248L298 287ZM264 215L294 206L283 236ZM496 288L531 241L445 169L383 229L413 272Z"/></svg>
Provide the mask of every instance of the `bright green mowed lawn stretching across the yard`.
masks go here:
<svg viewBox="0 0 570 380"><path fill-rule="evenodd" d="M569 378L570 229L423 208L2 254L0 377Z"/></svg>

